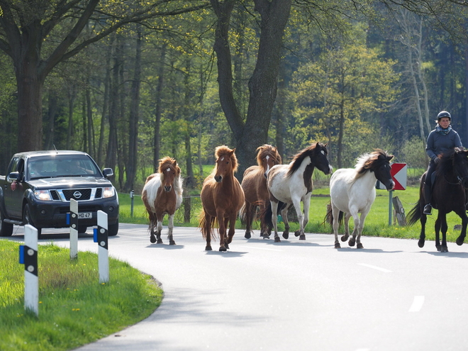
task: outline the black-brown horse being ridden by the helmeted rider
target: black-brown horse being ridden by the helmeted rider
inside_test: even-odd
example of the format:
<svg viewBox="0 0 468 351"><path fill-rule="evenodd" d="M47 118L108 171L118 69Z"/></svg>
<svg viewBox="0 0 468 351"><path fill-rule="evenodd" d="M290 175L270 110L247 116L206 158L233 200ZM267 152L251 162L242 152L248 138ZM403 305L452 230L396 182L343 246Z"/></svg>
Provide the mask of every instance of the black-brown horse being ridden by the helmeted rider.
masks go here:
<svg viewBox="0 0 468 351"><path fill-rule="evenodd" d="M420 180L419 201L408 213L406 218L408 225L413 225L420 220L421 232L418 246L424 246L425 222L427 216L423 213L425 204L430 203L438 210L438 218L435 221L435 247L440 252L448 252L447 249L447 213L454 211L462 218L462 233L457 238L457 245L462 245L467 235L468 217L466 212L466 194L468 189L468 150L456 148L440 157L440 162L435 169L432 199L424 199L425 173ZM442 245L440 245L439 232L442 230Z"/></svg>

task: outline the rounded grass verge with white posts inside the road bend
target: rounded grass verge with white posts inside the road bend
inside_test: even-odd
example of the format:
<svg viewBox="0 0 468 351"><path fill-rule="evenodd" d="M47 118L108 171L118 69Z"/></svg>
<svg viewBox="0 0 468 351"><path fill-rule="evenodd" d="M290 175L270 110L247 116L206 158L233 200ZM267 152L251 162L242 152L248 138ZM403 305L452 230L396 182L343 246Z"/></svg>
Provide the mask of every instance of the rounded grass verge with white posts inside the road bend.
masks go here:
<svg viewBox="0 0 468 351"><path fill-rule="evenodd" d="M99 284L97 255L40 245L39 316L24 309L24 266L16 242L0 240L0 350L72 350L133 325L155 311L162 289L126 262L109 259Z"/></svg>

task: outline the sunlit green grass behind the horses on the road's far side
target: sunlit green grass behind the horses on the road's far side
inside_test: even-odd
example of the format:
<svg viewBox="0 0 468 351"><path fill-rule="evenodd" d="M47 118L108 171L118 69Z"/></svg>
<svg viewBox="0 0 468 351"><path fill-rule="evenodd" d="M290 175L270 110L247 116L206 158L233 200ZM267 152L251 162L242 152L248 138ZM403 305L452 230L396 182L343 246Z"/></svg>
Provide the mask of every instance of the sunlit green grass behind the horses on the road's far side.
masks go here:
<svg viewBox="0 0 468 351"><path fill-rule="evenodd" d="M185 196L185 195L184 195ZM406 190L393 191L393 197L398 196L401 204L403 205L406 214L409 213L411 208L416 205L419 199L419 186L407 186ZM136 223L148 224L147 214L141 196L136 196L133 199L133 217L130 216L130 197L128 194L119 194L119 201L121 206L121 223ZM201 202L198 196L191 196L191 216L190 222L184 223L184 204L179 210L176 211L174 216L174 225L177 226L191 226L197 227L199 225L199 214L202 211ZM325 223L325 216L327 213L327 204L330 203L330 189L328 187L318 187L313 190L311 198L311 208L309 211L309 223L306 226L306 233L333 233L331 225ZM393 208L393 205L392 205ZM435 220L437 219L437 210L433 211L433 216L428 216L426 223L426 240L435 240ZM393 217L393 215L392 215ZM389 225L389 191L377 190L377 197L372 204L371 211L367 215L364 224L362 235L364 236L381 236L386 238L405 238L405 239L418 239L420 234L419 222L413 226L399 226L394 223L394 218L391 218L392 224ZM461 219L455 213L447 215L447 223L449 225L447 231L447 240L455 242L459 235L459 230L455 230L454 226L461 224ZM167 216L163 222L167 225ZM299 224L290 221L291 232L299 229ZM237 222L236 228L238 233L242 232L240 221ZM255 235L259 235L260 225L258 221L253 223L253 230ZM350 219L350 230L354 228L354 222ZM284 224L279 223L278 230L284 230ZM340 235L344 233L343 226L339 230ZM236 234L238 235L238 234Z"/></svg>

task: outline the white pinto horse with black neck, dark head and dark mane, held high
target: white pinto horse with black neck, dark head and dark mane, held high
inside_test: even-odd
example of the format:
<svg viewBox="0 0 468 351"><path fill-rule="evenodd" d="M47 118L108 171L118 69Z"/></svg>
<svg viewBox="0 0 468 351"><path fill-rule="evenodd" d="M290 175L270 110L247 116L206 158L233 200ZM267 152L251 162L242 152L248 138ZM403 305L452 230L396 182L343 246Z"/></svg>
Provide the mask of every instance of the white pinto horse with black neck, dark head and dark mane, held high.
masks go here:
<svg viewBox="0 0 468 351"><path fill-rule="evenodd" d="M295 235L299 236L299 240L306 240L304 228L308 223L308 209L311 206L313 170L317 167L325 174L330 174L333 170L327 160L327 145L313 143L298 152L289 165L276 165L268 172L267 186L270 206L267 206L265 221L267 224L273 225L275 243L281 241L277 227L278 209L281 210L284 221L283 238L289 238L289 222L286 213L291 204L294 204L300 225L299 231ZM301 211L301 202L303 203L303 212Z"/></svg>

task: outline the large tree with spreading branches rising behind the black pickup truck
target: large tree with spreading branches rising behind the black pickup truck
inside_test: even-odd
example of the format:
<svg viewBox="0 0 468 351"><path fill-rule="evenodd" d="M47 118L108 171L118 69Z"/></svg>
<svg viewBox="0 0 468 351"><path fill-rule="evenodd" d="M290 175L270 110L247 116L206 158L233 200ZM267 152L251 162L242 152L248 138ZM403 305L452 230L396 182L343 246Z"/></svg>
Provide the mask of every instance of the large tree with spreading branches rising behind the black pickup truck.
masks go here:
<svg viewBox="0 0 468 351"><path fill-rule="evenodd" d="M38 150L43 138L43 84L59 62L128 23L196 11L206 4L191 1L187 6L183 0L131 1L131 6L127 1L0 0L0 7L0 50L13 60L18 85L18 125L22 126L18 150Z"/></svg>

